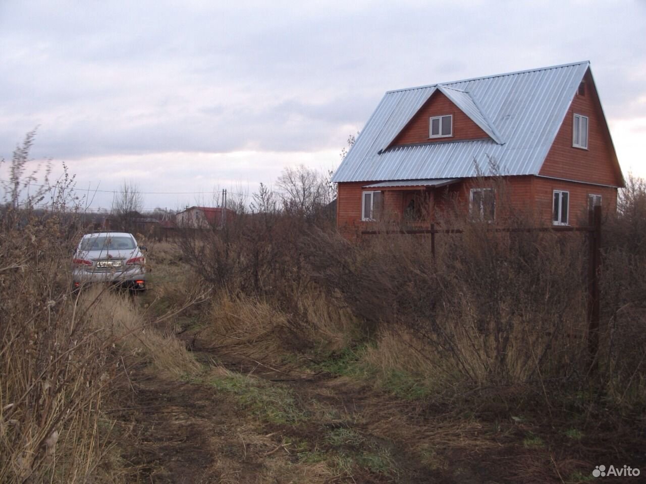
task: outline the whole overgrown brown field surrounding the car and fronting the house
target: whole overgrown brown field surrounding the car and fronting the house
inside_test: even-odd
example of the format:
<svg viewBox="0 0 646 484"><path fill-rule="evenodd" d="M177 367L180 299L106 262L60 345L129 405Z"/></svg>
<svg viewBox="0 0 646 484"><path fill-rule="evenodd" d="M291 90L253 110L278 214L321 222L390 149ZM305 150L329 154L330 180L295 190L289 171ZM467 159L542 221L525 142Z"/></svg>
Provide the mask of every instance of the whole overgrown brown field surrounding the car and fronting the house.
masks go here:
<svg viewBox="0 0 646 484"><path fill-rule="evenodd" d="M638 187L639 188L639 187ZM3 483L579 483L646 472L646 197L585 239L350 244L295 217L149 247L145 294L70 292L56 216L0 234ZM640 198L641 197L641 198ZM641 204L641 205L640 205ZM608 482L612 479L606 478Z"/></svg>

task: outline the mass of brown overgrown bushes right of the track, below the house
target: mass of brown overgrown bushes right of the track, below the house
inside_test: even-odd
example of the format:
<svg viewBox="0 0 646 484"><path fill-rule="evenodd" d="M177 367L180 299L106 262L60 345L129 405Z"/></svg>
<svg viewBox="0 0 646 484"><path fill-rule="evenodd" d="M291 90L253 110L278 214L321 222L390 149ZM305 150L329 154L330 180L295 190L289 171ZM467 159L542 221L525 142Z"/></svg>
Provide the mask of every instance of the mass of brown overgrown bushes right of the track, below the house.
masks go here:
<svg viewBox="0 0 646 484"><path fill-rule="evenodd" d="M372 341L366 358L391 361L391 370L447 394L458 387L523 385L541 398L567 389L636 408L646 402L638 351L644 194L643 182L630 181L618 213L609 214L603 227L596 371L588 345L585 232L528 231L536 221L505 207L500 213L506 216L493 225L459 210L445 214L441 227L460 233L437 234L435 258L428 235L379 234L350 242L329 227L276 212L237 217L225 230L185 237L182 247L207 281L234 298L256 298L282 312L293 341L316 338L309 331L316 312L308 307L313 295L325 294L348 310L338 317L353 319L353 338ZM349 325L337 321L335 327ZM386 353L393 348L399 354Z"/></svg>

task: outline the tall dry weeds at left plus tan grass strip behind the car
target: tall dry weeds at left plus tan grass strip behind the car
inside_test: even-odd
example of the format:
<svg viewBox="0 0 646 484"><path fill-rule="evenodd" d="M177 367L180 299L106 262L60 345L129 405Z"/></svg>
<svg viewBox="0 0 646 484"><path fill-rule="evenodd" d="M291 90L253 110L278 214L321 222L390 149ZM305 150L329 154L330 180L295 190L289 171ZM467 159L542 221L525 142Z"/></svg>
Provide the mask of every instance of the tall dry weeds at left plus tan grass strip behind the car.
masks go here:
<svg viewBox="0 0 646 484"><path fill-rule="evenodd" d="M172 378L200 367L127 294L72 294L79 234L68 214L9 211L1 220L0 481L120 483L127 470L103 408L128 385L124 359Z"/></svg>

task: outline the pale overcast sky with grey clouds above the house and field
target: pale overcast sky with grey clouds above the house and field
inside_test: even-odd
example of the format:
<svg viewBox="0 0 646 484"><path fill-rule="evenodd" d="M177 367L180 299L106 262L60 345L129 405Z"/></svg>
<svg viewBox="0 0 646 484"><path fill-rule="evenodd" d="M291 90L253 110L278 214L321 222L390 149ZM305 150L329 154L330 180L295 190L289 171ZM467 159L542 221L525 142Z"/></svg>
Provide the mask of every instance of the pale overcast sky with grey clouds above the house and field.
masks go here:
<svg viewBox="0 0 646 484"><path fill-rule="evenodd" d="M336 168L386 90L584 60L624 174L646 177L643 0L0 0L0 157L39 126L32 156L79 189L210 204Z"/></svg>

